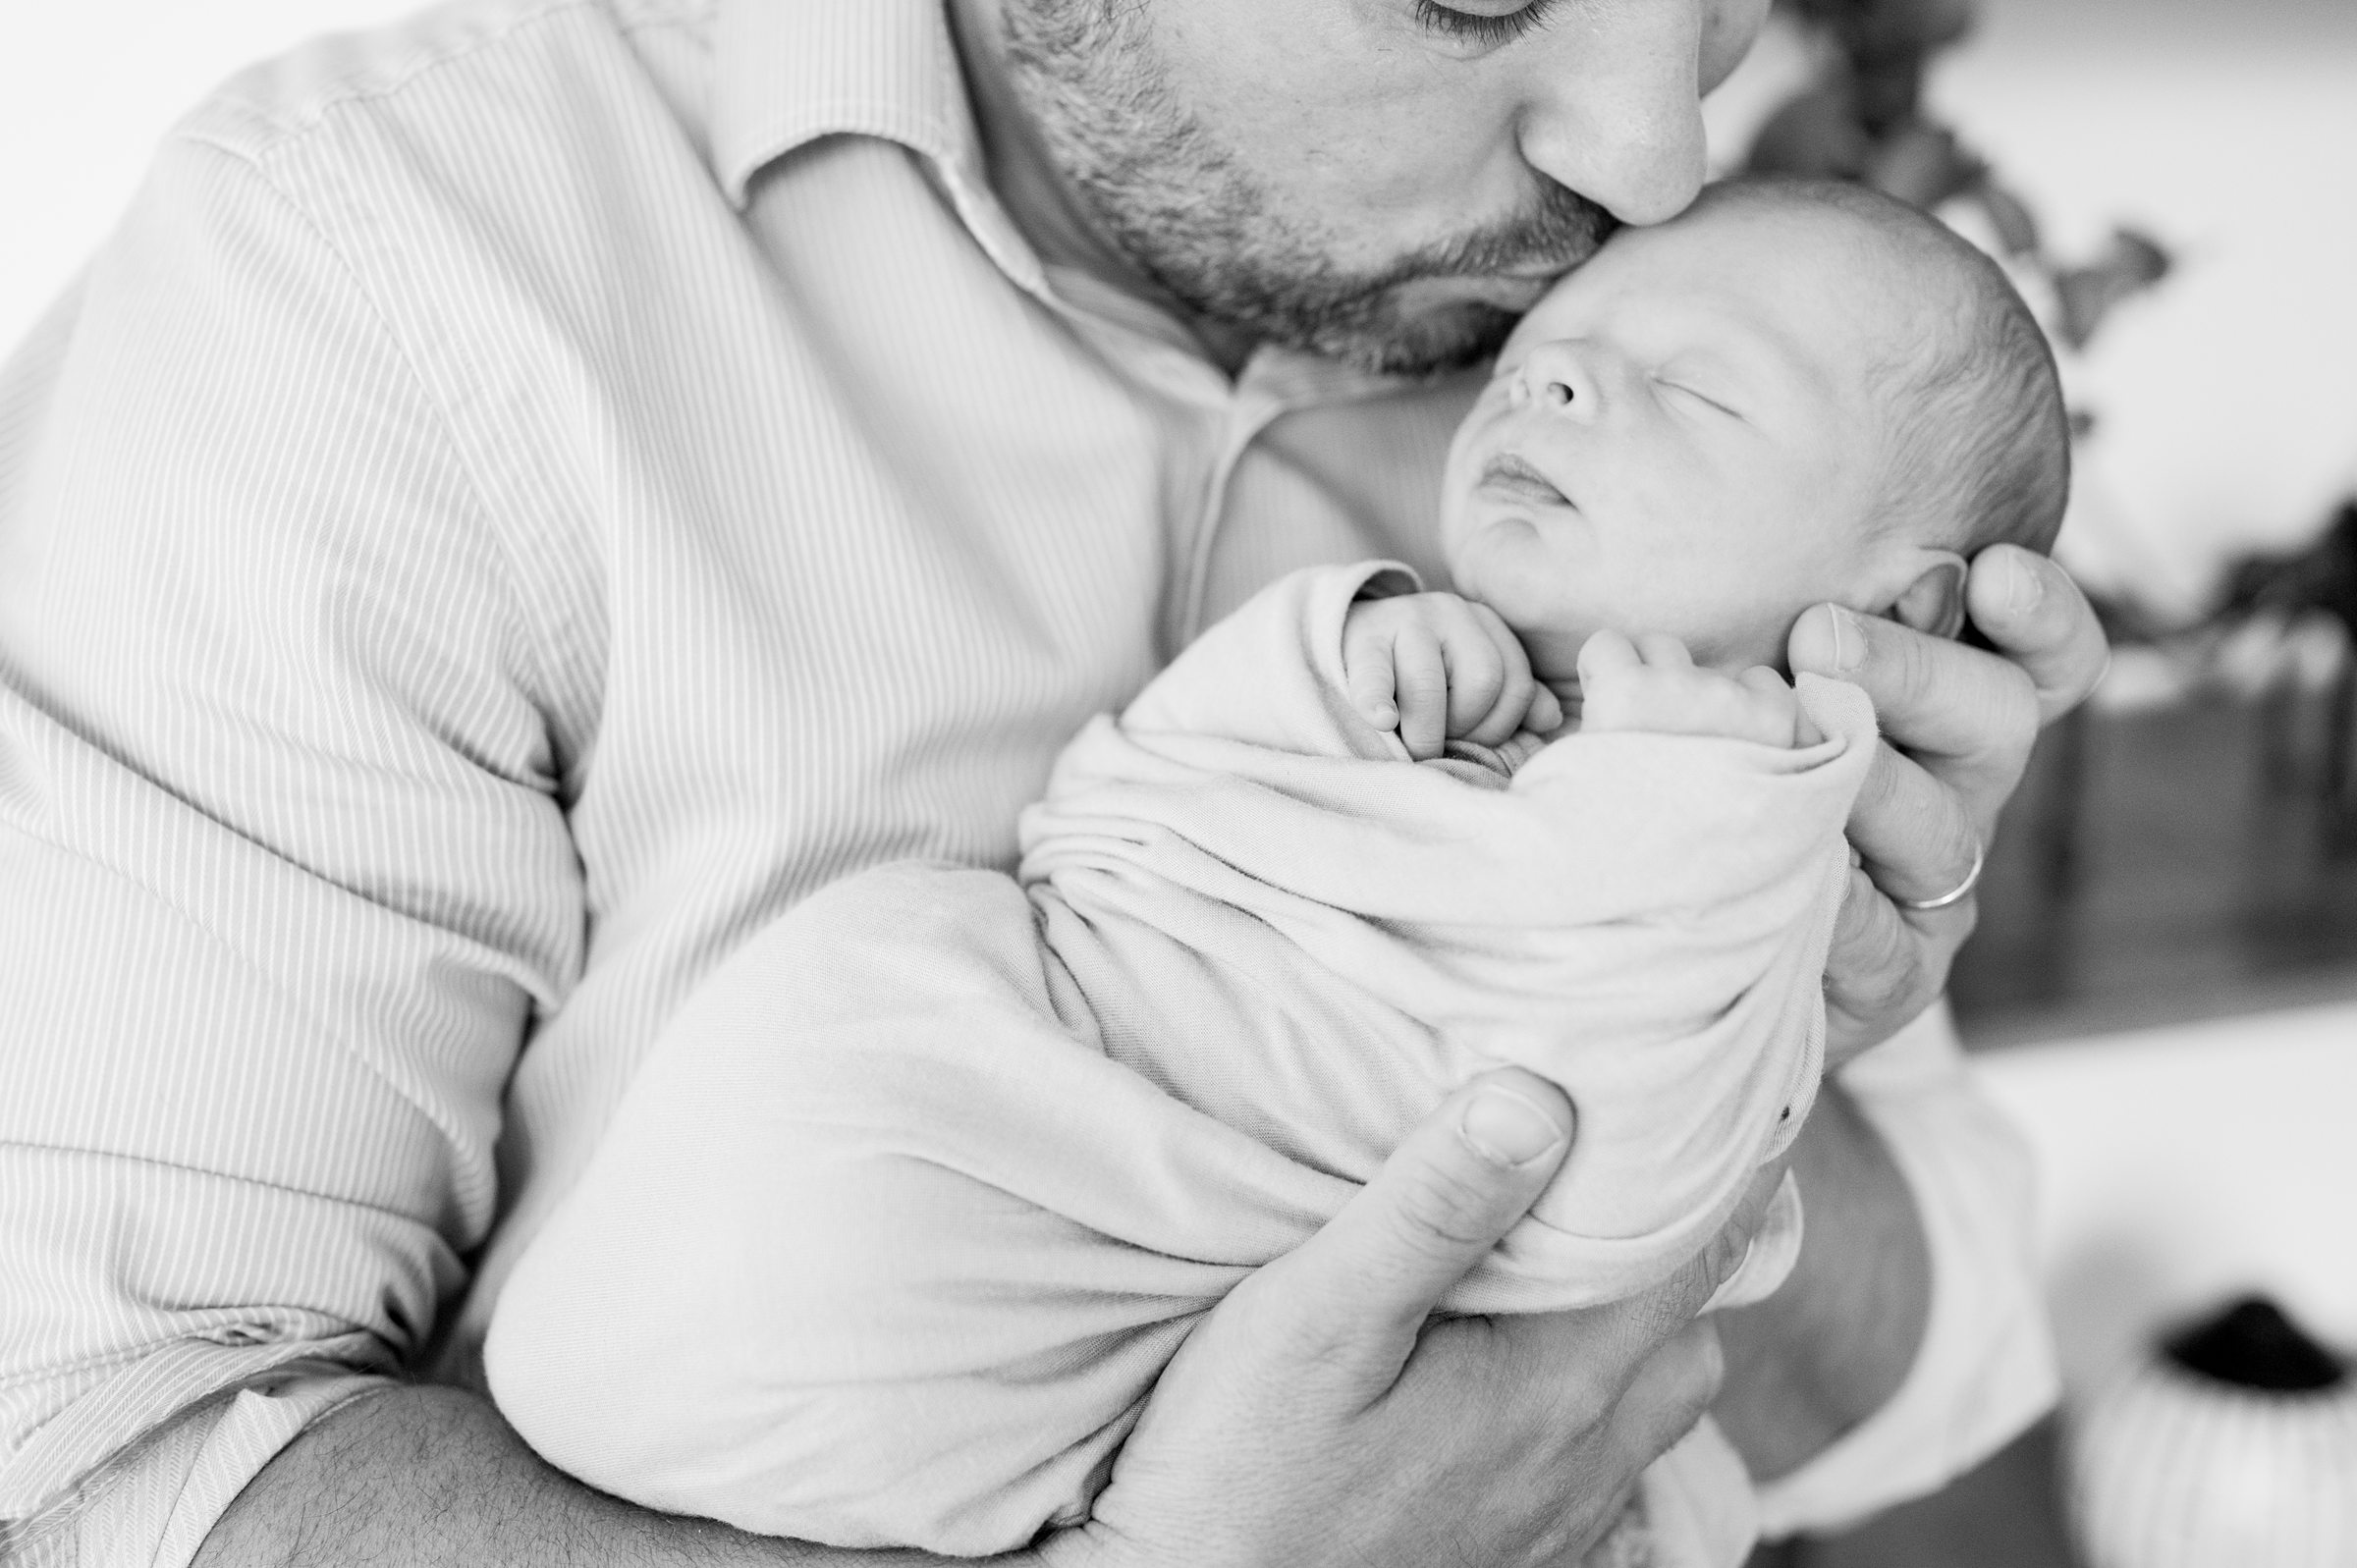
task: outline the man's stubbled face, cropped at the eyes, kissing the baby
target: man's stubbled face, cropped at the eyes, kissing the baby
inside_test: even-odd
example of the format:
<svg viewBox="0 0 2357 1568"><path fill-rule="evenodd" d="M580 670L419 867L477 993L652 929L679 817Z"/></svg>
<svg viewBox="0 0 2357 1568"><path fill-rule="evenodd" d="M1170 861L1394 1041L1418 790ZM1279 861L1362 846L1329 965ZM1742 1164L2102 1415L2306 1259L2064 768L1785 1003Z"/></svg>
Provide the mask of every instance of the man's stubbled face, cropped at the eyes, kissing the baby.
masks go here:
<svg viewBox="0 0 2357 1568"><path fill-rule="evenodd" d="M1487 356L1702 184L1768 0L1004 0L1089 217L1188 309L1381 370Z"/></svg>

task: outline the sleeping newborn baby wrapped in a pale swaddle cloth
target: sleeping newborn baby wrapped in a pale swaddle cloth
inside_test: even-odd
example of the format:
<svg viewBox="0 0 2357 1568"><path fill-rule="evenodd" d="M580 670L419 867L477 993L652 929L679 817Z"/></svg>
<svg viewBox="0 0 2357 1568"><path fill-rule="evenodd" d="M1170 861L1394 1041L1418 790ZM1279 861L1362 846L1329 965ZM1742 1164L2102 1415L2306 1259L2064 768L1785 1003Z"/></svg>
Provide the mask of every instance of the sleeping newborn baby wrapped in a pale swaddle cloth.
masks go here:
<svg viewBox="0 0 2357 1568"><path fill-rule="evenodd" d="M1794 618L1954 634L1966 559L2044 547L2065 488L2044 337L1937 224L1744 184L1619 233L1457 434L1454 594L1285 578L1070 743L1018 879L877 868L714 971L500 1299L502 1410L648 1507L1018 1547L1087 1516L1188 1327L1497 1063L1579 1139L1445 1306L1666 1278L1822 1070L1876 740L1777 674ZM1737 1561L1747 1500L1697 1429L1626 1542Z"/></svg>

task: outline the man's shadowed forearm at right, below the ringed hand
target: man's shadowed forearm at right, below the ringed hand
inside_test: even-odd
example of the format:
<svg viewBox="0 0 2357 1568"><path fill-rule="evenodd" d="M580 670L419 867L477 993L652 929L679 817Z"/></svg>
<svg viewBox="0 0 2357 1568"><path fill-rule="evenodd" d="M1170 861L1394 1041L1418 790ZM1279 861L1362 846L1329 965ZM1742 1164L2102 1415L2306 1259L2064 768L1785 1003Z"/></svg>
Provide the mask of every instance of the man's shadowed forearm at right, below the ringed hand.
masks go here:
<svg viewBox="0 0 2357 1568"><path fill-rule="evenodd" d="M1754 1478L1772 1481L1881 1410L1930 1316L1914 1193L1855 1101L1827 1085L1794 1146L1805 1231L1772 1297L1721 1313L1728 1379L1711 1412Z"/></svg>

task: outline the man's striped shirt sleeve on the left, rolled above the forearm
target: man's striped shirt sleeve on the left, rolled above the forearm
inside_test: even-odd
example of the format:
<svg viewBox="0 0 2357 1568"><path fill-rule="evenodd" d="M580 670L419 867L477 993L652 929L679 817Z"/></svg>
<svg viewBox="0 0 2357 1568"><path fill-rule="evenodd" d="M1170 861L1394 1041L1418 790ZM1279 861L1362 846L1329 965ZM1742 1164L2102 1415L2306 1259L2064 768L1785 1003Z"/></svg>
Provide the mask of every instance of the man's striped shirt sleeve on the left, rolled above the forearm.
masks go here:
<svg viewBox="0 0 2357 1568"><path fill-rule="evenodd" d="M585 922L455 450L196 134L0 373L0 1556L189 1561L490 1228Z"/></svg>

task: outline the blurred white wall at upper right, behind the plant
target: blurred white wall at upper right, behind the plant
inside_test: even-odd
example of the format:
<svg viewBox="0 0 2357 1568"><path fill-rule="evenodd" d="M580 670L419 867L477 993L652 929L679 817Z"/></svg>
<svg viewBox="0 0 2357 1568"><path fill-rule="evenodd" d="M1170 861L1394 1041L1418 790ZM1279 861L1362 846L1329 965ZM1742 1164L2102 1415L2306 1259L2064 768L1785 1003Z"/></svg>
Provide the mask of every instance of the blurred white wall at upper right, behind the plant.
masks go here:
<svg viewBox="0 0 2357 1568"><path fill-rule="evenodd" d="M1982 0L1933 99L2060 250L2131 222L2180 257L2072 365L2084 575L2194 608L2357 493L2357 5Z"/></svg>

